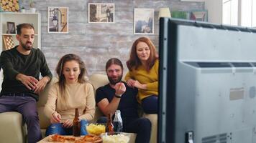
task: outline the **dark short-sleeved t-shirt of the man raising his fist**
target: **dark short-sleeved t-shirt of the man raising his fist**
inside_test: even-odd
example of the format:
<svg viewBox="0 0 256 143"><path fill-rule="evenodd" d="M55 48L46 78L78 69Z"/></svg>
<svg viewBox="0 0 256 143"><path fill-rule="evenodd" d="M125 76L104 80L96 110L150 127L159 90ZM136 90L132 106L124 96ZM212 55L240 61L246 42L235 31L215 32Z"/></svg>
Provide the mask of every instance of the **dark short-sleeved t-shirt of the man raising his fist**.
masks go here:
<svg viewBox="0 0 256 143"><path fill-rule="evenodd" d="M124 124L128 124L132 119L139 118L137 109L138 109L138 102L137 102L137 92L136 88L128 87L126 83L126 92L122 94L121 100L119 102L119 106L117 109L121 111L121 117ZM104 87L99 87L96 90L96 103L98 104L101 102L102 99L106 98L109 102L114 98L115 89L110 87L109 84L106 84Z"/></svg>

